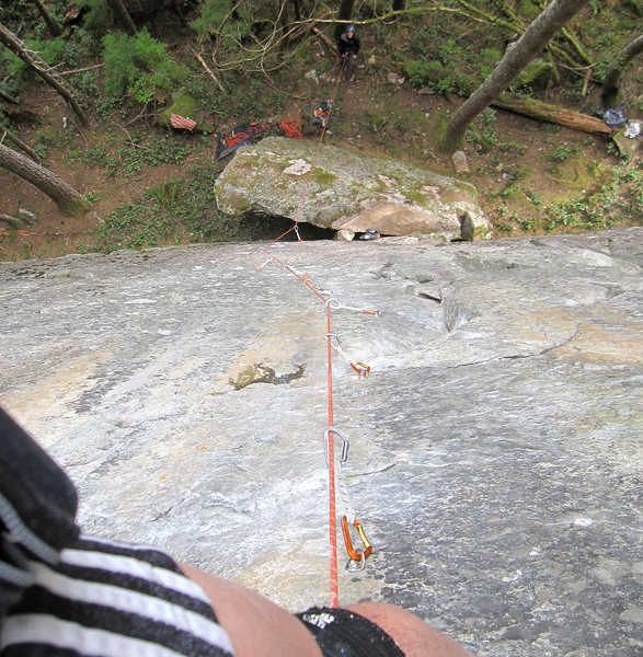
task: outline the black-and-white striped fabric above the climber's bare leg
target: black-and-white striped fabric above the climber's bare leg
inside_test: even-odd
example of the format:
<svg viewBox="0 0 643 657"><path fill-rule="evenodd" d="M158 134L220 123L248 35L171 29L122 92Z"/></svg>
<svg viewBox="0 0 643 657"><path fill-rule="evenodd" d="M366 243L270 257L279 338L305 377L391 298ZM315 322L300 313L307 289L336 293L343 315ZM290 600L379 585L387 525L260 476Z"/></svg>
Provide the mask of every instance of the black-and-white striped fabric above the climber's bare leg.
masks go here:
<svg viewBox="0 0 643 657"><path fill-rule="evenodd" d="M30 562L34 584L2 622L1 657L229 657L199 587L164 553L80 539L56 565Z"/></svg>

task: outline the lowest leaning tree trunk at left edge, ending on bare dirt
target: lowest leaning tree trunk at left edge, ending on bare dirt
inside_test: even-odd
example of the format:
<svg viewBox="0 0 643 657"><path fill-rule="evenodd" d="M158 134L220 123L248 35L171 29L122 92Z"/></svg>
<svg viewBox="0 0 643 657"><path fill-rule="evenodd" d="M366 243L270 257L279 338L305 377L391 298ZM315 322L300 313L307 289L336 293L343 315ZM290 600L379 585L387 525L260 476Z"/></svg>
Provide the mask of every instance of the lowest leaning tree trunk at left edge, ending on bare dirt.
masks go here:
<svg viewBox="0 0 643 657"><path fill-rule="evenodd" d="M44 192L65 215L80 217L91 204L73 187L60 180L55 173L41 166L33 160L21 155L0 143L0 166L35 185Z"/></svg>

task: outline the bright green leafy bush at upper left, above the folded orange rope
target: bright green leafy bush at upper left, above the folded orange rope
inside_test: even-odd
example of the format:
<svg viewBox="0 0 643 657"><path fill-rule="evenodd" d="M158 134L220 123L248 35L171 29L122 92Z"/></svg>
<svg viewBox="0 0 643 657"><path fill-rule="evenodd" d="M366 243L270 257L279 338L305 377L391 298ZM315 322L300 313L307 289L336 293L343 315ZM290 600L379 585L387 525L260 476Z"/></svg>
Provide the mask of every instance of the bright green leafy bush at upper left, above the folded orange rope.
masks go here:
<svg viewBox="0 0 643 657"><path fill-rule="evenodd" d="M103 38L105 94L115 99L129 94L137 103L149 103L157 88L170 92L185 71L169 57L165 46L147 30L128 36L107 34Z"/></svg>

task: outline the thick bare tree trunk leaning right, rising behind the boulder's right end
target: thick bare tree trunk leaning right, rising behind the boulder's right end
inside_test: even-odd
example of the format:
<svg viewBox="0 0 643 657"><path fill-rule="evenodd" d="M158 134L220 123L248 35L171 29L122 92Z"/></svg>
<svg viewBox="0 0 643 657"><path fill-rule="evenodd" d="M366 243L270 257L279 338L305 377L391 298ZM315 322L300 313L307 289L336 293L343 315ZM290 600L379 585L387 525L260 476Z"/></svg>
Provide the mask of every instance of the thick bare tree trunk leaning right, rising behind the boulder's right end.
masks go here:
<svg viewBox="0 0 643 657"><path fill-rule="evenodd" d="M491 76L453 114L440 148L453 152L461 143L469 124L496 99L518 73L540 53L551 37L589 0L554 0L527 27L516 45L506 53Z"/></svg>

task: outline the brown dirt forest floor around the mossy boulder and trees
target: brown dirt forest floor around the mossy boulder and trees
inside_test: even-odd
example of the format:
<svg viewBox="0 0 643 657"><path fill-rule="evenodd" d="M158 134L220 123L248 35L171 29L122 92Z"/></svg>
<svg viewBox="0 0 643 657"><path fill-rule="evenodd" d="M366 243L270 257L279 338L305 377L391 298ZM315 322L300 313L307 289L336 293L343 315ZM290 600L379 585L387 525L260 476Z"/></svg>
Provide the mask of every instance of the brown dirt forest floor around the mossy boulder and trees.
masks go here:
<svg viewBox="0 0 643 657"><path fill-rule="evenodd" d="M453 173L448 158L436 148L437 122L445 112L455 112L462 102L456 96L443 96L428 90L417 91L406 82L391 83L384 73L366 72L366 65L357 69L352 84L342 82L337 88L338 111L332 119L326 143L352 150L399 157L434 170ZM282 113L284 118L300 113L305 136L317 138L319 131L309 124L309 111L319 100L332 97L336 84L331 78L320 81L301 81L296 94L287 94ZM382 102L383 99L383 102ZM556 99L549 99L555 103ZM80 159L70 159L70 151L82 151L88 146L100 146L114 134L126 141L137 127L128 120L92 119L90 128L80 128L67 105L53 91L38 84L24 105L31 110L24 117L14 116L21 138L30 145L37 140L38 131L54 130L62 135L61 148L50 148L42 163L79 192L91 193L92 209L81 218L65 217L56 205L36 187L18 176L0 171L0 212L18 217L21 209L35 216L35 222L21 230L8 230L0 223L0 260L51 257L76 253L80 245L91 245L93 231L102 218L118 207L135 203L150 188L169 178L184 176L198 162L214 161L216 135L184 135L194 145L194 152L181 164L146 165L127 177L108 177L104 169L89 166ZM66 129L62 129L67 117ZM265 117L249 116L249 120ZM220 128L232 127L236 119L221 122ZM141 122L138 124L140 129ZM492 125L498 145L484 152L479 143L468 142L466 154L470 174L466 178L480 192L480 203L495 224L494 237L507 237L502 227L507 218L519 218L512 235L542 232L539 212L542 207L574 193L595 188L601 183L600 171L613 165L615 155L607 152L607 140L540 123L533 119L496 111ZM147 126L142 124L142 129ZM159 130L159 128L152 128ZM574 153L561 163L555 175L551 173L552 153L564 145ZM597 175L587 178L586 163L594 162ZM512 181L519 186L512 188ZM498 229L500 227L500 229ZM555 231L554 231L555 232ZM84 247L84 246L82 246Z"/></svg>

